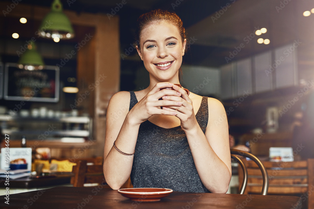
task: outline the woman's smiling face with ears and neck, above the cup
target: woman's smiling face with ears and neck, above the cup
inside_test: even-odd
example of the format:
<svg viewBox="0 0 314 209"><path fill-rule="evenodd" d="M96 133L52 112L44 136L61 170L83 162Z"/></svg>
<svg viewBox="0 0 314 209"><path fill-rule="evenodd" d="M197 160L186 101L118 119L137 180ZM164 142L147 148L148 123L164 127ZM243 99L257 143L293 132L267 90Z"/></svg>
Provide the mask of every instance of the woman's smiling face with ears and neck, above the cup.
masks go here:
<svg viewBox="0 0 314 209"><path fill-rule="evenodd" d="M151 82L179 83L178 71L182 64L186 39L178 28L165 21L147 26L140 34L138 54L149 72Z"/></svg>

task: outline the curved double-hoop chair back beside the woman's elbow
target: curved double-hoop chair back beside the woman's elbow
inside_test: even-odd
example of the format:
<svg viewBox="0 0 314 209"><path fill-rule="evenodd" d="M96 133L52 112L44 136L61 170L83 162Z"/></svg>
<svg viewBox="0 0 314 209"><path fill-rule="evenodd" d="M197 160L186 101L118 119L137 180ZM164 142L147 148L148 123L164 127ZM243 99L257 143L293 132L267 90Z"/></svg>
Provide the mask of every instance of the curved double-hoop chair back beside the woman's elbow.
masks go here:
<svg viewBox="0 0 314 209"><path fill-rule="evenodd" d="M241 187L239 189L239 194L244 194L245 189L246 189L246 185L247 185L247 181L248 181L248 174L247 174L247 168L245 166L245 164L243 163L243 160L238 157L239 155L241 157L246 157L251 159L252 161L254 161L257 166L259 167L259 169L262 172L262 177L263 177L263 186L262 186L262 195L267 195L268 192L268 186L269 186L269 179L268 179L268 173L267 170L265 169L265 166L263 165L263 163L253 154L248 153L248 152L244 152L241 150L237 150L237 149L230 149L230 153L231 153L231 158L236 160L239 165L242 168L243 171L243 181L241 184Z"/></svg>

